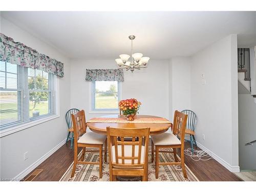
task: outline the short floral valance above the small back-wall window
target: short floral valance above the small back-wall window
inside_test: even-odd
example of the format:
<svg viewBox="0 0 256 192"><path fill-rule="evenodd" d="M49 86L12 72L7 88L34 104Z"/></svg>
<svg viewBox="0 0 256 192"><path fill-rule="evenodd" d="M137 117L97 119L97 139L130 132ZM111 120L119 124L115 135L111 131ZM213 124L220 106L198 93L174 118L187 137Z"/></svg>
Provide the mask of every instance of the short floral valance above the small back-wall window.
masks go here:
<svg viewBox="0 0 256 192"><path fill-rule="evenodd" d="M122 69L87 69L87 81L123 81Z"/></svg>

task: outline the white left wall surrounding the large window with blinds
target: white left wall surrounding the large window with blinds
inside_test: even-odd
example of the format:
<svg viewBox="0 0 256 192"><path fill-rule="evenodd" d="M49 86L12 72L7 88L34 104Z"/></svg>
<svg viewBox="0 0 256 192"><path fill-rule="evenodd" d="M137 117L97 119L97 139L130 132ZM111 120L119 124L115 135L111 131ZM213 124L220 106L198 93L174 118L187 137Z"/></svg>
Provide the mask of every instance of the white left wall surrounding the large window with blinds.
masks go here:
<svg viewBox="0 0 256 192"><path fill-rule="evenodd" d="M16 27L4 18L1 18L1 33L12 37L15 41L23 42L39 53L44 53L65 63L65 77L59 78L60 117L0 139L0 177L14 178L15 176L24 176L24 171L29 166L46 155L67 137L65 113L70 108L70 65L69 59L61 55L58 50ZM24 161L25 152L28 152L28 159Z"/></svg>

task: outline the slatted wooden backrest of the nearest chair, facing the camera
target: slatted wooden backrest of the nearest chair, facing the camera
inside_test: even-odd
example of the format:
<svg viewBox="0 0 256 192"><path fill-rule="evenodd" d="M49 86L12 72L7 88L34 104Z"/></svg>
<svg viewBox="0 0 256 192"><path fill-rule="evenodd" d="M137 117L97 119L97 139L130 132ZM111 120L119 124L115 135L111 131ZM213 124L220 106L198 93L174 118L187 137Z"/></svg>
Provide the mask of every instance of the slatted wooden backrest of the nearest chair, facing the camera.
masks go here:
<svg viewBox="0 0 256 192"><path fill-rule="evenodd" d="M118 166L123 168L133 168L141 166L144 166L145 168L145 166L147 166L150 128L119 129L114 127L106 127L106 134L108 137L109 159L111 166ZM118 137L120 137L120 140L118 140ZM125 137L131 137L132 140L125 141ZM142 142L143 140L144 145ZM112 150L113 146L115 150ZM144 149L143 157L141 153L142 148ZM113 153L115 153L114 162L114 159L112 159ZM143 158L143 161L141 158Z"/></svg>

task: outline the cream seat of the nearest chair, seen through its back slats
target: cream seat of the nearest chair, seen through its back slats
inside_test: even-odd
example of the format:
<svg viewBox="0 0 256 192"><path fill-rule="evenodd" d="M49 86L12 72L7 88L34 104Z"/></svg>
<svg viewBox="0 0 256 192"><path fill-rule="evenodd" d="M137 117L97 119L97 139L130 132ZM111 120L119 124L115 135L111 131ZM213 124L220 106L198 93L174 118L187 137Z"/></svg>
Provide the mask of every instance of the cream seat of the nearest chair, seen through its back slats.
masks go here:
<svg viewBox="0 0 256 192"><path fill-rule="evenodd" d="M139 146L138 145L135 145L134 147L134 156L138 156L139 154ZM140 156L140 163L143 163L144 162L144 151L145 151L145 147L144 146L141 146L141 156ZM122 147L121 145L118 145L117 146L117 154L118 156L121 156L122 155ZM124 156L130 156L132 157L132 145L124 145ZM115 154L115 145L112 146L112 162L113 163L116 163L116 154ZM122 163L122 160L121 159L118 159L118 163ZM125 164L132 164L132 160L131 159L125 159L124 160L124 163ZM134 163L138 163L138 160L135 159L134 160Z"/></svg>

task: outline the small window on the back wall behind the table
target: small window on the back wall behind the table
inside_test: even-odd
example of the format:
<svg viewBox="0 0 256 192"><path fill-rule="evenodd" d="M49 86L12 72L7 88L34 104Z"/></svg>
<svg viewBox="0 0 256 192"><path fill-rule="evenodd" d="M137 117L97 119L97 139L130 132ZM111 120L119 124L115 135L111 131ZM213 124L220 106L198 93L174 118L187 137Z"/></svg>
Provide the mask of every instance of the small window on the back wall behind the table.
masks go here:
<svg viewBox="0 0 256 192"><path fill-rule="evenodd" d="M117 111L119 87L118 81L92 81L92 110Z"/></svg>

